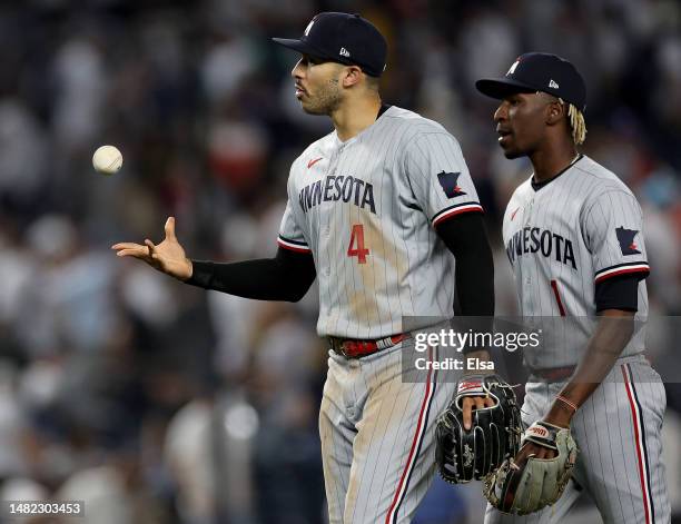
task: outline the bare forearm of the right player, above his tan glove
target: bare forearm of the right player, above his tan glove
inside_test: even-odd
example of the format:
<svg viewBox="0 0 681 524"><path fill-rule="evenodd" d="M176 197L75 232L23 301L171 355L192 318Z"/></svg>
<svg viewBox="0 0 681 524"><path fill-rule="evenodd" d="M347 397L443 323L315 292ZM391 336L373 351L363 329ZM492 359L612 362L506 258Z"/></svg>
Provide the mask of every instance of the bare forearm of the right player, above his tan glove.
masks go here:
<svg viewBox="0 0 681 524"><path fill-rule="evenodd" d="M571 418L611 372L634 332L633 313L608 309L602 313L571 380L553 403L546 421L568 426Z"/></svg>

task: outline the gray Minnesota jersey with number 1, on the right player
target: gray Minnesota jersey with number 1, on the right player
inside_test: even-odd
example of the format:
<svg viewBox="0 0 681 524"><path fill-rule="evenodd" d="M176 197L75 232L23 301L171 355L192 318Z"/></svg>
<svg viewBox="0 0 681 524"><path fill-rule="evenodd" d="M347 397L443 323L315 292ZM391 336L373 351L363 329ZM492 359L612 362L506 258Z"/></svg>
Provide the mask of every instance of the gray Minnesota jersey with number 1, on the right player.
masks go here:
<svg viewBox="0 0 681 524"><path fill-rule="evenodd" d="M506 255L513 267L523 317L570 317L543 320L551 326L543 344L527 347L530 367L579 362L596 314L595 284L619 275L650 270L643 241L641 208L631 190L611 171L582 156L549 184L531 179L511 197L503 225ZM648 295L639 283L636 319L648 316ZM638 329L622 355L643 352Z"/></svg>

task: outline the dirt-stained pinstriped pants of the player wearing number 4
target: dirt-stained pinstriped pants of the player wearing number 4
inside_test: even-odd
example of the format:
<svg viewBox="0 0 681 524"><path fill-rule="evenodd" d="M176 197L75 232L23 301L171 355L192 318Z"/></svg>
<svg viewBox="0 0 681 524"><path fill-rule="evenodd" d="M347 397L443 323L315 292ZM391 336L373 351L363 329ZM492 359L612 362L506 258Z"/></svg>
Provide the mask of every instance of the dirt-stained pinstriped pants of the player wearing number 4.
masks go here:
<svg viewBox="0 0 681 524"><path fill-rule="evenodd" d="M401 347L329 352L319 435L332 524L408 523L433 479L435 421L455 384L425 370L404 382Z"/></svg>

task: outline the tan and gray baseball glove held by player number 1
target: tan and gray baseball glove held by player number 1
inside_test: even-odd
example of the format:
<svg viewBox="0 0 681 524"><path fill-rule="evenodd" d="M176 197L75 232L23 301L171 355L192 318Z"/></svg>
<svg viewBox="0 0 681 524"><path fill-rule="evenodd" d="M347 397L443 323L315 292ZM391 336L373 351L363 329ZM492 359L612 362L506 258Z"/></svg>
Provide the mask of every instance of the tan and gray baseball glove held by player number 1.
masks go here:
<svg viewBox="0 0 681 524"><path fill-rule="evenodd" d="M553 449L556 456L542 459L531 456L524 464L510 458L485 478L485 497L504 513L526 515L553 505L572 475L579 449L570 429L535 422L523 435L521 449L526 442Z"/></svg>

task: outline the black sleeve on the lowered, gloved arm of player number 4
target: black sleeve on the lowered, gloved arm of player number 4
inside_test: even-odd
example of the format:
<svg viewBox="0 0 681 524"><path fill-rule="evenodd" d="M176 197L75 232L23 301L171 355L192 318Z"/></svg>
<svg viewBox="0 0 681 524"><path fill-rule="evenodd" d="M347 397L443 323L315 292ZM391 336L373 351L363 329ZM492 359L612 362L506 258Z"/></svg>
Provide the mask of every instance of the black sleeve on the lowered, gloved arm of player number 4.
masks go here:
<svg viewBox="0 0 681 524"><path fill-rule="evenodd" d="M494 261L483 216L465 212L437 226L437 234L456 257L460 314L494 316Z"/></svg>

